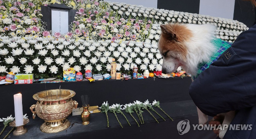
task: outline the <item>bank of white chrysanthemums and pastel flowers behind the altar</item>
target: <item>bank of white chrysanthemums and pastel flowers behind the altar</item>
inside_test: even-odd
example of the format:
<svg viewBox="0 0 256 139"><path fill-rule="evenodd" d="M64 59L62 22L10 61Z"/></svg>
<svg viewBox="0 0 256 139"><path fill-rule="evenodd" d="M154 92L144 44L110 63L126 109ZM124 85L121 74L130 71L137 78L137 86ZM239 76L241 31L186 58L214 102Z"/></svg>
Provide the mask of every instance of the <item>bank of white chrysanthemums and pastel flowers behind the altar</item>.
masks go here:
<svg viewBox="0 0 256 139"><path fill-rule="evenodd" d="M44 30L41 5L64 3L77 9L72 31ZM117 71L162 70L158 53L160 25L211 23L216 37L233 42L245 24L230 19L97 0L0 0L0 74L34 73L35 78L60 77L63 69L108 73L112 58Z"/></svg>

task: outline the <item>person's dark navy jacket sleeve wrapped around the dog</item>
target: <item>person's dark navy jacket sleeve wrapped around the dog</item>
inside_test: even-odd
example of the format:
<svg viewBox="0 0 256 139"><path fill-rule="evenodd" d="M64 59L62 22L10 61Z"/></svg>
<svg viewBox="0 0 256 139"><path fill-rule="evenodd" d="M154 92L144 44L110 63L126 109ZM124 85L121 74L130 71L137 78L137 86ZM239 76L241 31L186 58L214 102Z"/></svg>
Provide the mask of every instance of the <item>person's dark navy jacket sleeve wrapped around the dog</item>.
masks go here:
<svg viewBox="0 0 256 139"><path fill-rule="evenodd" d="M209 116L256 105L256 25L241 33L192 82L189 94L196 106Z"/></svg>

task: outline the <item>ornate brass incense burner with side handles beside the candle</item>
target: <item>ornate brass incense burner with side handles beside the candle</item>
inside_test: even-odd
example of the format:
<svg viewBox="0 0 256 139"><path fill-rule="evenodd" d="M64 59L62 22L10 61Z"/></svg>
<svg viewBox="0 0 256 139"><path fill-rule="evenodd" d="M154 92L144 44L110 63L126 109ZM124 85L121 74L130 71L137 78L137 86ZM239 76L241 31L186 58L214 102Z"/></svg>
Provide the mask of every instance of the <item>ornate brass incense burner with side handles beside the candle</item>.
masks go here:
<svg viewBox="0 0 256 139"><path fill-rule="evenodd" d="M78 105L76 101L72 100L73 96L75 96L75 92L66 89L45 90L33 95L37 103L32 105L30 110L33 113L33 119L37 114L39 118L45 120L40 127L42 132L56 133L70 126L70 122L66 118Z"/></svg>

